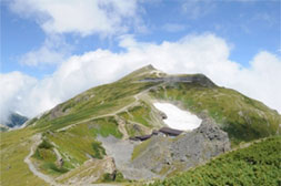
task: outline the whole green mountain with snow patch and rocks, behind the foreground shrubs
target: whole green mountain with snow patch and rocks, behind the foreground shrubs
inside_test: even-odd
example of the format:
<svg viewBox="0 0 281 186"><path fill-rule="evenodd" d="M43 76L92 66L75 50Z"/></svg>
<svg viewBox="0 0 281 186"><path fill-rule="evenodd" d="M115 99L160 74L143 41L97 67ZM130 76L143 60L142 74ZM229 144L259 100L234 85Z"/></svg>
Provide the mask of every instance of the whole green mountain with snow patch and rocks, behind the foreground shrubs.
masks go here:
<svg viewBox="0 0 281 186"><path fill-rule="evenodd" d="M279 135L280 123L277 111L203 74L167 74L148 65L3 133L1 185L132 185L164 178ZM167 128L180 124L185 131Z"/></svg>

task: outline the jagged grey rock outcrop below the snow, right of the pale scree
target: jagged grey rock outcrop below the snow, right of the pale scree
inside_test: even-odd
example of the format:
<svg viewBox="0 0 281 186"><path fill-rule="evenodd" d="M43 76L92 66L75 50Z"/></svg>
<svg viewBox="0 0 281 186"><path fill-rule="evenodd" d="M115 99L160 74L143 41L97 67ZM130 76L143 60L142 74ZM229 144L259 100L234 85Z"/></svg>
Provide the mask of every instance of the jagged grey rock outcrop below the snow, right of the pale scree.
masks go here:
<svg viewBox="0 0 281 186"><path fill-rule="evenodd" d="M164 177L174 169L187 170L230 151L228 134L209 118L199 128L175 138L158 135L144 143L149 144L132 161L131 166L148 169L157 177Z"/></svg>

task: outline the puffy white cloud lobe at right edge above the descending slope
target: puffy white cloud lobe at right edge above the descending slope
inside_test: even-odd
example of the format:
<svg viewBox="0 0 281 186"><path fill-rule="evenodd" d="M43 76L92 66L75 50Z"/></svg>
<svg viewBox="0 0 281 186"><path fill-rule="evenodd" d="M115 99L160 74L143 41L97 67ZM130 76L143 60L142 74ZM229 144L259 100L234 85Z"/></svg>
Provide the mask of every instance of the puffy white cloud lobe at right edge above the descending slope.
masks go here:
<svg viewBox="0 0 281 186"><path fill-rule="evenodd" d="M241 90L281 113L281 59L262 51L253 58L250 65L249 69L240 71L240 82L229 83L230 86Z"/></svg>

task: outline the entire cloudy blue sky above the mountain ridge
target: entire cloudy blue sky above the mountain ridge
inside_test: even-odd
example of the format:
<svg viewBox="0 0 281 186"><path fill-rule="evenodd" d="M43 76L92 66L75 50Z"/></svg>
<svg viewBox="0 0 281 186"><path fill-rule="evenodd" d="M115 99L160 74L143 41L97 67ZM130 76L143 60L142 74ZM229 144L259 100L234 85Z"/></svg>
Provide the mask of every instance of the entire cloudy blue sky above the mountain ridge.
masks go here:
<svg viewBox="0 0 281 186"><path fill-rule="evenodd" d="M2 0L1 118L147 64L204 73L281 112L279 0Z"/></svg>

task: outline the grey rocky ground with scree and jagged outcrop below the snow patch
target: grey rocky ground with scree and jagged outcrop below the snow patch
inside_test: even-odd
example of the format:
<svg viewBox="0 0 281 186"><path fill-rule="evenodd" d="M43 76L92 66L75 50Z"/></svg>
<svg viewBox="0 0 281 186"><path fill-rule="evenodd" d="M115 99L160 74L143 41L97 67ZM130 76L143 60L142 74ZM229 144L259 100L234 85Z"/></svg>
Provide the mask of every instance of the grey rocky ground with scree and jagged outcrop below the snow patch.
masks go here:
<svg viewBox="0 0 281 186"><path fill-rule="evenodd" d="M154 135L145 147L132 159L133 149L141 142L99 137L107 154L113 157L116 167L127 179L163 178L169 174L185 170L230 151L228 134L209 118L200 127L178 137Z"/></svg>

